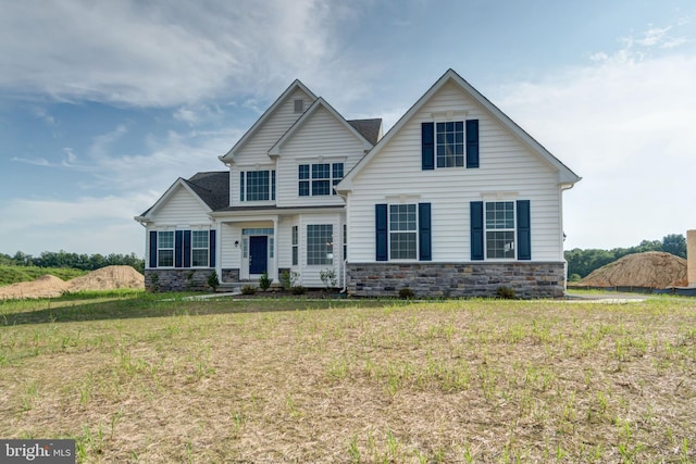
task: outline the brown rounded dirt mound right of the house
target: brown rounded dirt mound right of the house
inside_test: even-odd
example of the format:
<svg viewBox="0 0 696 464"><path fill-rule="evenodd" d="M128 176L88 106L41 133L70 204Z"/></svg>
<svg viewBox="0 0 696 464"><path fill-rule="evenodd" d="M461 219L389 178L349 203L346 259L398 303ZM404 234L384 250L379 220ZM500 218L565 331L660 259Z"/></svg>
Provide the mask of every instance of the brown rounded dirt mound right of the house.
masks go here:
<svg viewBox="0 0 696 464"><path fill-rule="evenodd" d="M579 285L592 287L685 287L686 260L661 251L629 254L593 271Z"/></svg>

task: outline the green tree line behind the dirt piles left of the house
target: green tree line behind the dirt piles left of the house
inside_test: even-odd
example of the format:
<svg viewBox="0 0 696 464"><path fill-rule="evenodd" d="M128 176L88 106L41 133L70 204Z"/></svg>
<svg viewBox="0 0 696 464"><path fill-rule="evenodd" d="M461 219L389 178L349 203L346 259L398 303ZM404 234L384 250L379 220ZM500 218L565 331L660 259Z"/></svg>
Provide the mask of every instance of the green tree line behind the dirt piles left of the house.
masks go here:
<svg viewBox="0 0 696 464"><path fill-rule="evenodd" d="M67 251L44 251L39 256L17 251L14 256L0 253L0 265L8 266L37 266L37 267L71 267L82 271L96 271L105 266L133 266L137 272L145 271L145 260L135 253L108 255L77 254Z"/></svg>

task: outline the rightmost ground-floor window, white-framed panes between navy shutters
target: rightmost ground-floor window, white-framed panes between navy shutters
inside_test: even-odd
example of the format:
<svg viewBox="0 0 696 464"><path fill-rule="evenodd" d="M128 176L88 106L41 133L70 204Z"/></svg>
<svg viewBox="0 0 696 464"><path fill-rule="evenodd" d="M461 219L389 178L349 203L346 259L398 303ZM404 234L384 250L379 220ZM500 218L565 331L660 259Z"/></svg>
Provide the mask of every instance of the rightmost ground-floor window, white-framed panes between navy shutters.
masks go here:
<svg viewBox="0 0 696 464"><path fill-rule="evenodd" d="M486 258L514 259L514 202L486 202Z"/></svg>

